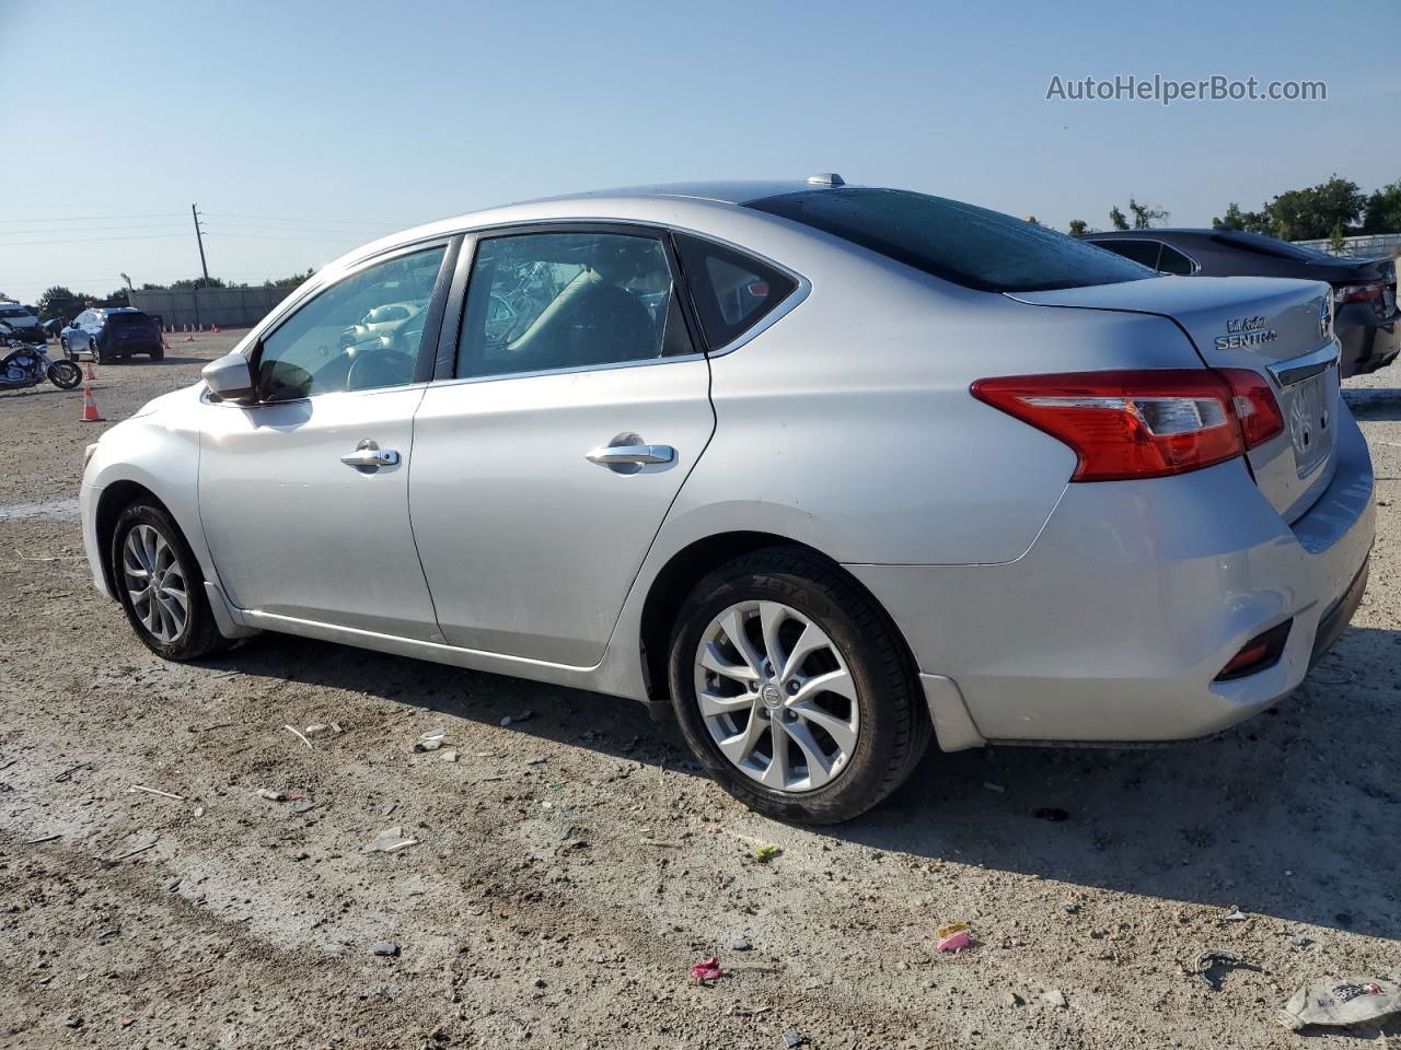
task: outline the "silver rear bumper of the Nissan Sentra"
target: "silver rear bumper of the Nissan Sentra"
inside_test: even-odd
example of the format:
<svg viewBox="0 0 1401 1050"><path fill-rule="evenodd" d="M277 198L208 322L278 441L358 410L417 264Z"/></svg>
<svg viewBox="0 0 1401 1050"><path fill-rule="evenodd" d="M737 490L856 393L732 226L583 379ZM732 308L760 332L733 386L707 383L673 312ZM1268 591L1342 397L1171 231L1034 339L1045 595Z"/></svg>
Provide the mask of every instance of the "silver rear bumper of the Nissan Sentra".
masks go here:
<svg viewBox="0 0 1401 1050"><path fill-rule="evenodd" d="M1297 686L1362 599L1372 458L1346 412L1335 456L1332 483L1292 526L1233 461L1068 486L1037 542L1007 564L849 568L920 671L951 685L930 693L936 722L957 724L955 701L965 706L976 732L953 746L1205 736ZM1215 680L1286 620L1274 666Z"/></svg>

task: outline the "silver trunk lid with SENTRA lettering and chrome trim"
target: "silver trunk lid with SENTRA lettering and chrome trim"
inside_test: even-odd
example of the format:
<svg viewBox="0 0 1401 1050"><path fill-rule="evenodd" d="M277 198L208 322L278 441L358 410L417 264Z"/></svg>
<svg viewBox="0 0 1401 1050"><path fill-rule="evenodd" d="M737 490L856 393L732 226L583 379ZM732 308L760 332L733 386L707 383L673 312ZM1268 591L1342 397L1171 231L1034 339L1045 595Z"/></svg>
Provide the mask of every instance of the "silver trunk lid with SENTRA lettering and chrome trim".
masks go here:
<svg viewBox="0 0 1401 1050"><path fill-rule="evenodd" d="M1248 368L1268 378L1285 430L1247 458L1261 491L1295 521L1332 479L1339 410L1332 291L1316 281L1275 277L1157 277L1086 288L1019 293L1038 307L1111 309L1170 318L1213 368Z"/></svg>

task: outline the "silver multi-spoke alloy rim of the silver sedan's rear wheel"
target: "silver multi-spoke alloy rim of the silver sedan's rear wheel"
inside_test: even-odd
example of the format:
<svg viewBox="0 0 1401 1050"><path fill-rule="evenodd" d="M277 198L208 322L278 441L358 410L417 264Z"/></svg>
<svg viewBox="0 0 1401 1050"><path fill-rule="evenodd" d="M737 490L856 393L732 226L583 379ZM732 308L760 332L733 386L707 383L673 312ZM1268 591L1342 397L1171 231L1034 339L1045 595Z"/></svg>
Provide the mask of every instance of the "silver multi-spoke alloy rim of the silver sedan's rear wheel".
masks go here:
<svg viewBox="0 0 1401 1050"><path fill-rule="evenodd" d="M782 602L738 602L709 623L695 690L720 753L773 791L825 787L856 752L860 710L846 659L810 616Z"/></svg>

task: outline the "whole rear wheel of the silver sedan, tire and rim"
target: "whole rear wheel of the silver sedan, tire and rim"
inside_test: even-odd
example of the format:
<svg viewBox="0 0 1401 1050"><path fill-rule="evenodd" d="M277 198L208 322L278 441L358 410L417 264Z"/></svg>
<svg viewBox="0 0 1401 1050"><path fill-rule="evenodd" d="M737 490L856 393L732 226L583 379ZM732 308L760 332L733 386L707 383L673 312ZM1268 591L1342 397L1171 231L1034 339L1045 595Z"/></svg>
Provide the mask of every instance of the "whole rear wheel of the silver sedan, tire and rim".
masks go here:
<svg viewBox="0 0 1401 1050"><path fill-rule="evenodd" d="M894 626L836 566L799 549L747 554L695 587L672 633L670 680L710 776L785 820L859 816L929 743Z"/></svg>

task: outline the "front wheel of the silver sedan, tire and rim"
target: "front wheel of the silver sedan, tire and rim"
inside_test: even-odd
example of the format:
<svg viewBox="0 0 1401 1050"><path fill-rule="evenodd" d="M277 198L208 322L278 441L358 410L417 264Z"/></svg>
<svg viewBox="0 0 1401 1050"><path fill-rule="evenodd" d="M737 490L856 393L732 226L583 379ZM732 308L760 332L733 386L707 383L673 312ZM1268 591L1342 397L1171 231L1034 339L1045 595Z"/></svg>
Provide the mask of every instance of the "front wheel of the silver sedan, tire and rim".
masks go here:
<svg viewBox="0 0 1401 1050"><path fill-rule="evenodd" d="M198 659L224 648L199 563L161 507L134 503L122 511L109 556L126 619L151 652Z"/></svg>

